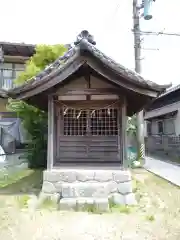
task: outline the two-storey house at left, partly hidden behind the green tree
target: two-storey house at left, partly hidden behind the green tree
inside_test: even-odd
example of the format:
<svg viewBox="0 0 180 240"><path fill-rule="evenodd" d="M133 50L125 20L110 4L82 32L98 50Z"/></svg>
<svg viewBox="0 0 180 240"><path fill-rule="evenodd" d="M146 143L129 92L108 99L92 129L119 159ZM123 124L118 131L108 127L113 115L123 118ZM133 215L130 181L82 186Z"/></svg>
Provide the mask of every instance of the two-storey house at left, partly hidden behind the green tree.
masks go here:
<svg viewBox="0 0 180 240"><path fill-rule="evenodd" d="M65 44L65 47L69 49L71 45ZM26 142L21 120L6 109L8 98L5 91L15 87L14 80L24 71L25 62L34 53L33 44L0 42L0 143L5 152L13 152Z"/></svg>

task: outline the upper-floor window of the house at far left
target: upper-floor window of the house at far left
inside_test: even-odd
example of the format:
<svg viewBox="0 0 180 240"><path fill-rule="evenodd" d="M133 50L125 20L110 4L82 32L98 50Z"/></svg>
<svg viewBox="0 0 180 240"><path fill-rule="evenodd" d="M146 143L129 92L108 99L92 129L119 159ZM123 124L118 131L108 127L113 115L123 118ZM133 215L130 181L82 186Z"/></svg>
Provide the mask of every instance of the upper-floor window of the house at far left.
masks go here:
<svg viewBox="0 0 180 240"><path fill-rule="evenodd" d="M13 81L20 72L24 71L24 64L3 63L0 64L0 88L11 89Z"/></svg>

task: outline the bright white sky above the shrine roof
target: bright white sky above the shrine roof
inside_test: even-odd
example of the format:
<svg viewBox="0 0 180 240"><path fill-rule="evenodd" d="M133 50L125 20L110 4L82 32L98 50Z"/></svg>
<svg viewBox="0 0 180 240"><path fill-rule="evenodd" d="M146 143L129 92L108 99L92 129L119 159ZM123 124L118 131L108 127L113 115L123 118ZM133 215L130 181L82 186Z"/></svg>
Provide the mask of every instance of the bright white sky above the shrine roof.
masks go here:
<svg viewBox="0 0 180 240"><path fill-rule="evenodd" d="M180 33L180 0L156 0L146 31ZM97 47L134 68L132 0L1 0L0 41L70 43L87 29ZM144 36L142 75L160 84L180 83L180 37Z"/></svg>

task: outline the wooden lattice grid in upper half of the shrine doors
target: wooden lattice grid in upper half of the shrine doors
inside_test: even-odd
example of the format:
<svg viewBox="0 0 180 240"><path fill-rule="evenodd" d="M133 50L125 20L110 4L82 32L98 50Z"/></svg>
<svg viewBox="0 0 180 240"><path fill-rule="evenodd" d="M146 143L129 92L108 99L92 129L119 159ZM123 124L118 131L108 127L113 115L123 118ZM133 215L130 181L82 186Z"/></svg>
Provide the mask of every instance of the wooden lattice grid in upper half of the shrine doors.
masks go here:
<svg viewBox="0 0 180 240"><path fill-rule="evenodd" d="M65 136L114 136L118 133L117 109L66 109L63 115Z"/></svg>

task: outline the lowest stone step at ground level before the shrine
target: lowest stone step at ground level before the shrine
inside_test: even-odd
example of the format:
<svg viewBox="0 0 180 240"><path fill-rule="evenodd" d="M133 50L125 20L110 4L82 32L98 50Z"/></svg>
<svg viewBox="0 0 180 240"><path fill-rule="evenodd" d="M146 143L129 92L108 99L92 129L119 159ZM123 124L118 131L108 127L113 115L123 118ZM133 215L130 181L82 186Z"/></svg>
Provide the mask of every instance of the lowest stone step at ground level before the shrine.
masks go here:
<svg viewBox="0 0 180 240"><path fill-rule="evenodd" d="M107 198L62 198L59 202L59 210L107 212L109 202Z"/></svg>

